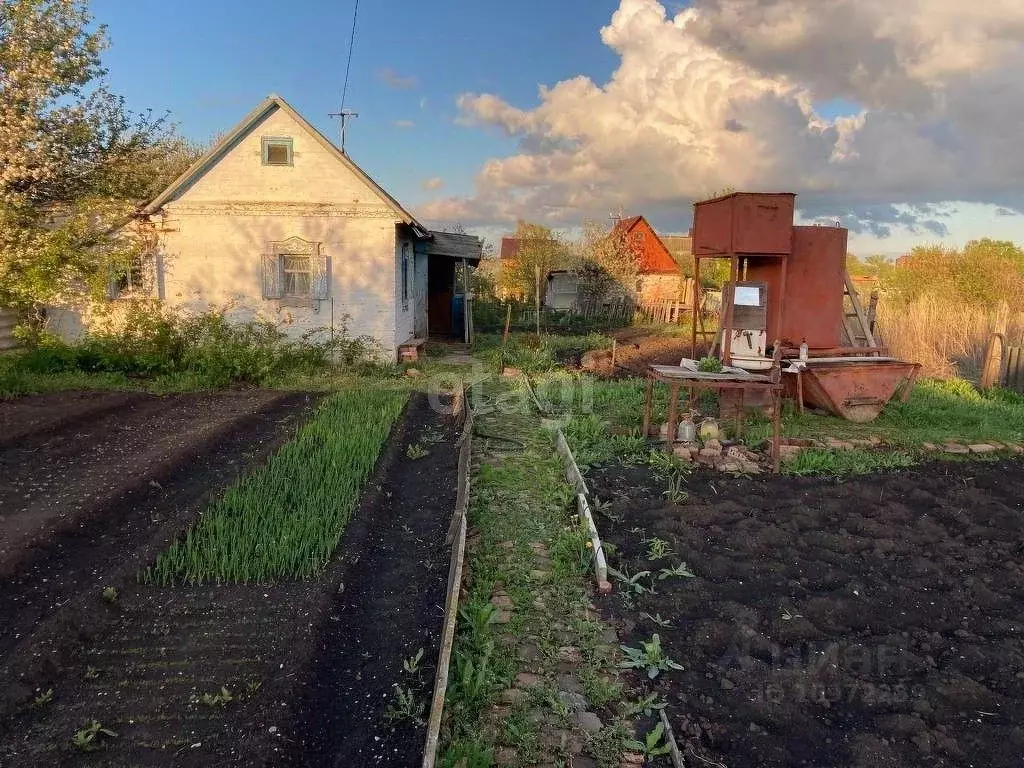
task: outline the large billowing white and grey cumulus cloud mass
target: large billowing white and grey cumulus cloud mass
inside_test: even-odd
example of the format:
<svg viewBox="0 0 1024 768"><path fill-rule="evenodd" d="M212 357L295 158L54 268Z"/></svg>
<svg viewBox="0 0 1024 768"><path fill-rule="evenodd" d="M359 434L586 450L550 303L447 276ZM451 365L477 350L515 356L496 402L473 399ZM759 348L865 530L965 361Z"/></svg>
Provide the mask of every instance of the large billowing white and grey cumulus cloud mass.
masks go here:
<svg viewBox="0 0 1024 768"><path fill-rule="evenodd" d="M805 216L885 234L941 233L946 201L1024 210L1020 0L694 0L672 16L622 0L601 39L606 83L574 77L539 103L460 97L460 122L517 142L474 195L427 218L552 224L631 211L686 219L726 186L800 194ZM827 119L816 104L859 114Z"/></svg>

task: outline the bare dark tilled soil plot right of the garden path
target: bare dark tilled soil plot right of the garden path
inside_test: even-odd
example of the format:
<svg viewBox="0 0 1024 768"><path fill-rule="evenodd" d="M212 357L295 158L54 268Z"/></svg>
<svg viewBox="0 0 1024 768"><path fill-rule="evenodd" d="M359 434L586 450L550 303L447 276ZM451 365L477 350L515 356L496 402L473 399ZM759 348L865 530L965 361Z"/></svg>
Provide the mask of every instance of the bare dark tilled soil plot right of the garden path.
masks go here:
<svg viewBox="0 0 1024 768"><path fill-rule="evenodd" d="M594 470L618 518L598 521L612 564L696 575L655 580L635 604L616 585L601 604L624 642L656 632L683 665L654 688L687 764L1024 765L1022 470L698 472L681 505L646 468ZM653 538L673 554L649 560Z"/></svg>

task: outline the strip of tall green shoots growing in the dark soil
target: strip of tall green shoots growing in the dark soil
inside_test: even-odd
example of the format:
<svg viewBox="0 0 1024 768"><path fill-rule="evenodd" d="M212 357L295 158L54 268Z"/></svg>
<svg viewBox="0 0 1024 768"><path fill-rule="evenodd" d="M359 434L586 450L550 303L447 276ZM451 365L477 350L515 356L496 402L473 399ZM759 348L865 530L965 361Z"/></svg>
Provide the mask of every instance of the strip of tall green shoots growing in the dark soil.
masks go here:
<svg viewBox="0 0 1024 768"><path fill-rule="evenodd" d="M253 583L319 573L404 400L404 393L388 390L331 397L295 439L158 555L142 581Z"/></svg>

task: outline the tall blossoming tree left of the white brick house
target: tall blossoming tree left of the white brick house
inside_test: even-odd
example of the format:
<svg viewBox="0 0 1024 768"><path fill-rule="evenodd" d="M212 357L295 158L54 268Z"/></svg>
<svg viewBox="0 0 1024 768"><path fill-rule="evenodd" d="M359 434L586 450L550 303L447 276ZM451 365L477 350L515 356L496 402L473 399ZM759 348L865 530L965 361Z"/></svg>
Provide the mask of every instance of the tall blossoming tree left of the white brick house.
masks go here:
<svg viewBox="0 0 1024 768"><path fill-rule="evenodd" d="M0 304L101 293L143 247L123 228L199 154L106 90L84 0L0 3Z"/></svg>

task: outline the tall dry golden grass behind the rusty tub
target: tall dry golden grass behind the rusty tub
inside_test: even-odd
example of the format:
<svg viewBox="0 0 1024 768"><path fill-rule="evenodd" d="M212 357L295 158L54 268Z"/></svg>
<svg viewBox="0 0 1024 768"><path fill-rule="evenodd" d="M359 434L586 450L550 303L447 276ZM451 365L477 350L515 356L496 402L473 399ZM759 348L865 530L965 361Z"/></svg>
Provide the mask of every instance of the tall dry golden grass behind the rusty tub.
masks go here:
<svg viewBox="0 0 1024 768"><path fill-rule="evenodd" d="M1024 340L1024 312L922 296L906 305L882 301L878 328L893 356L922 364L925 376L977 380L993 333L1010 344Z"/></svg>

